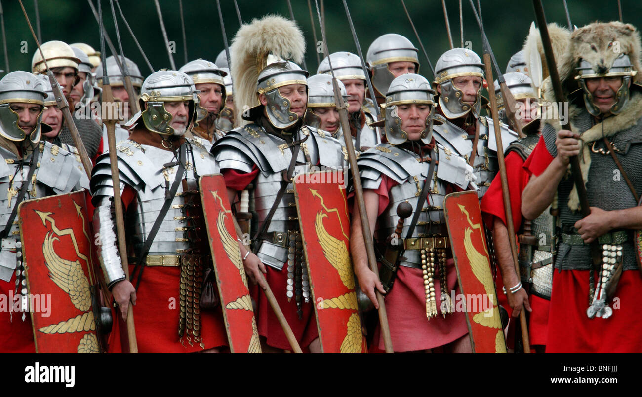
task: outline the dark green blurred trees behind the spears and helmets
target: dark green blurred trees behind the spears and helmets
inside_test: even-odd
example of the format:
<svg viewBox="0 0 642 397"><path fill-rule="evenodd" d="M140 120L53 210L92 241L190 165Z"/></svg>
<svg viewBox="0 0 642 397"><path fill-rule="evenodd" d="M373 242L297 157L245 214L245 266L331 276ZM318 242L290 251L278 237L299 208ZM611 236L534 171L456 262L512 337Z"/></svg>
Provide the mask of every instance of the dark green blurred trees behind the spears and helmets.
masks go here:
<svg viewBox="0 0 642 397"><path fill-rule="evenodd" d="M97 5L97 0L92 0ZM35 2L22 0L35 25ZM177 67L184 64L184 47L180 28L179 3L177 0L160 0L168 37L176 44L173 54ZM141 46L150 59L155 70L169 67L165 43L160 32L160 24L153 0L120 0L125 17L132 26ZM241 17L249 22L266 13L275 13L290 17L286 0L237 0ZM308 69L317 69L317 46L313 40L308 0L291 0L295 19L304 31L308 51L306 62ZM356 53L352 35L343 11L341 0L325 0L325 23L329 50L351 51ZM348 0L354 26L361 44L363 55L375 38L384 33L400 33L419 48L417 38L410 28L401 1L395 0ZM566 26L566 13L562 0L543 0L544 11L548 22L557 22ZM67 43L85 42L100 51L98 24L91 13L89 4L83 0L38 0L40 29L42 40L62 40ZM314 0L311 0L313 15L316 19ZM533 6L530 1L482 0L482 16L486 34L496 55L501 69L505 69L510 55L521 49L528 33L530 22L534 20ZM29 70L31 57L36 49L35 42L28 30L24 16L17 0L4 0L4 24L8 46L10 69ZM105 28L116 45L114 21L108 0L102 0ZM214 60L223 49L223 37L216 10L216 1L183 0L183 12L187 35L187 56L189 60L205 58ZM464 8L464 41L480 55L482 44L480 33L469 0L463 0ZM419 31L421 40L428 51L433 64L440 54L449 49L449 42L444 22L444 11L440 0L406 0L406 6L412 15L413 22ZM460 46L459 1L446 0L447 12L455 46ZM642 22L642 2L639 0L621 0L623 21L636 26ZM571 21L577 26L584 26L593 21L611 21L619 19L617 1L580 1L568 0ZM221 0L227 38L231 43L239 23L232 0ZM118 15L118 11L116 10ZM118 16L118 26L123 41L125 56L136 62L143 76L150 73L143 57L135 47L132 37ZM317 40L321 40L318 24ZM107 49L107 55L111 55ZM0 51L0 67L4 69L4 55ZM429 80L433 78L424 55L420 53L422 63L420 73ZM4 74L3 74L4 75Z"/></svg>

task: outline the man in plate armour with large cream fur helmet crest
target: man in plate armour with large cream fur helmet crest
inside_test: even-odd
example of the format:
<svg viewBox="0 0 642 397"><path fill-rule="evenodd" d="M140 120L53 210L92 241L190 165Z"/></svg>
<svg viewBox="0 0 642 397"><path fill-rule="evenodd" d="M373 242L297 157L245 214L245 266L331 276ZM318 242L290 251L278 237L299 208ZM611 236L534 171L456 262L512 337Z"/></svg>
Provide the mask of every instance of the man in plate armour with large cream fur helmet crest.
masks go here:
<svg viewBox="0 0 642 397"><path fill-rule="evenodd" d="M303 124L308 72L278 58L290 55L300 60L304 49L302 33L290 20L268 16L241 27L232 44L232 80L237 105L252 104L245 112L236 106L236 117L240 120L245 114L243 119L250 123L216 141L212 153L225 177L230 203L238 201L239 192L248 185L253 188L252 251L239 243L248 277L255 280L257 272L266 273L301 348L317 352L315 302L291 180L311 166L340 168L345 162L338 140ZM289 350L265 296L259 294L256 301L259 335L265 344Z"/></svg>

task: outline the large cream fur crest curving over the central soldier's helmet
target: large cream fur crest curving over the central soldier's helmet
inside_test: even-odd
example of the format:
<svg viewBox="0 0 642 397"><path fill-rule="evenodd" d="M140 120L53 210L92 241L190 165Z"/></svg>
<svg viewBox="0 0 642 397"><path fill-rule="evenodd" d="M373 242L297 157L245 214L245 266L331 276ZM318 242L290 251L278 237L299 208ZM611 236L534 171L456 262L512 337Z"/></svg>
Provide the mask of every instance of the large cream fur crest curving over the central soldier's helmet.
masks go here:
<svg viewBox="0 0 642 397"><path fill-rule="evenodd" d="M306 52L303 33L296 22L278 15L266 15L243 24L236 32L230 53L230 72L234 81L234 120L247 124L241 115L246 106L259 104L256 96L257 56L268 53L300 63Z"/></svg>

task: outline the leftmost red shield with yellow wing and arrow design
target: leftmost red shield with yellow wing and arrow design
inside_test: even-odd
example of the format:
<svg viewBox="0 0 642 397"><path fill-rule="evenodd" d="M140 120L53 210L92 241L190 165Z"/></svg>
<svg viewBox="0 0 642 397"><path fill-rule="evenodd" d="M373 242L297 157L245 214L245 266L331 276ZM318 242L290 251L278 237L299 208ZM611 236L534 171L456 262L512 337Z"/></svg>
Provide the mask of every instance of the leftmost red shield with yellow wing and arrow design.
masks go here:
<svg viewBox="0 0 642 397"><path fill-rule="evenodd" d="M85 190L23 201L18 212L35 350L98 353ZM43 299L51 302L49 312Z"/></svg>

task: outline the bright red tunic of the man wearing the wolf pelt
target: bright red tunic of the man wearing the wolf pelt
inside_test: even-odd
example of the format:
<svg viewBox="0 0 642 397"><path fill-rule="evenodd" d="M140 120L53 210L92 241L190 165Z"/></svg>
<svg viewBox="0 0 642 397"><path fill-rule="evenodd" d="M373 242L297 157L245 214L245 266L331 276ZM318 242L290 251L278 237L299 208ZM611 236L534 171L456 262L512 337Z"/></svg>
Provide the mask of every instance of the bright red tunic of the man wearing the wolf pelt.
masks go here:
<svg viewBox="0 0 642 397"><path fill-rule="evenodd" d="M526 160L529 174L540 175L553 161L540 138ZM608 319L586 315L589 271L562 270L553 273L553 291L548 316L546 353L642 352L642 317L636 305L642 278L636 271L622 273Z"/></svg>

